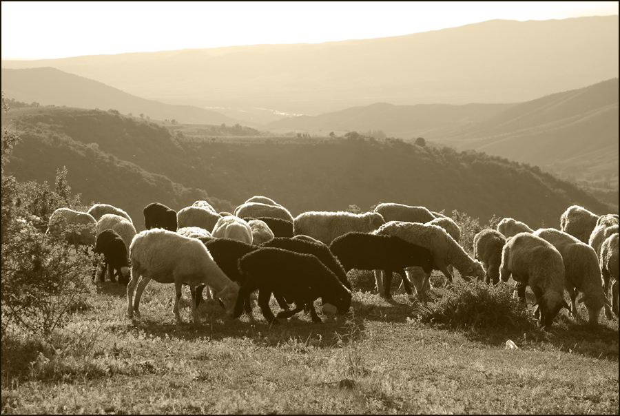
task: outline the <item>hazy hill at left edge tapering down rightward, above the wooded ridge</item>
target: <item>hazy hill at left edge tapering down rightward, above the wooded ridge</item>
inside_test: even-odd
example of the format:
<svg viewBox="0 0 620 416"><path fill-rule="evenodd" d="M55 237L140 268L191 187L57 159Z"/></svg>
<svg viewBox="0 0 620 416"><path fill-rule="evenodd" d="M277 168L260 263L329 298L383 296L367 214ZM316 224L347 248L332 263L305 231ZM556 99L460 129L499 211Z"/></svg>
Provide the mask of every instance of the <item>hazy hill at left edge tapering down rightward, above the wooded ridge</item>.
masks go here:
<svg viewBox="0 0 620 416"><path fill-rule="evenodd" d="M41 105L118 110L134 116L145 114L158 120L176 120L180 123L233 125L237 120L192 105L170 105L146 100L109 87L99 81L68 74L52 67L25 70L2 69L2 90L8 98Z"/></svg>

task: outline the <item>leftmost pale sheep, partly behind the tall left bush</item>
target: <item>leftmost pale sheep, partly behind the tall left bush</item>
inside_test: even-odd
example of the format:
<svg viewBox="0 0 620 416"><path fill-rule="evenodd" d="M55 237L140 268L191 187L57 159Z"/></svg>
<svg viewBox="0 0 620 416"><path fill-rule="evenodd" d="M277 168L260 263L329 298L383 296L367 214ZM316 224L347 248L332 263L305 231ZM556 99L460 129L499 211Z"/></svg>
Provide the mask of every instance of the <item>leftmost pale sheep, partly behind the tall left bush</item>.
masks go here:
<svg viewBox="0 0 620 416"><path fill-rule="evenodd" d="M75 247L94 246L96 242L96 220L85 212L69 208L56 209L50 216L48 230L45 233L64 234L65 241Z"/></svg>

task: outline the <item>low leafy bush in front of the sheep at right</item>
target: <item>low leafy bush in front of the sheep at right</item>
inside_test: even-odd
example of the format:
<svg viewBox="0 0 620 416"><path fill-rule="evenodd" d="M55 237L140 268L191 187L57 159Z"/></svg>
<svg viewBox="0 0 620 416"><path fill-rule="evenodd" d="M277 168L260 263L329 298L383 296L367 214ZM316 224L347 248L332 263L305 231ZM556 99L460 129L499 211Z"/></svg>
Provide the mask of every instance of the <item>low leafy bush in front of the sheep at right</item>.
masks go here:
<svg viewBox="0 0 620 416"><path fill-rule="evenodd" d="M436 304L419 304L414 313L422 322L451 329L526 330L536 327L533 315L505 284L490 286L474 280L455 280Z"/></svg>

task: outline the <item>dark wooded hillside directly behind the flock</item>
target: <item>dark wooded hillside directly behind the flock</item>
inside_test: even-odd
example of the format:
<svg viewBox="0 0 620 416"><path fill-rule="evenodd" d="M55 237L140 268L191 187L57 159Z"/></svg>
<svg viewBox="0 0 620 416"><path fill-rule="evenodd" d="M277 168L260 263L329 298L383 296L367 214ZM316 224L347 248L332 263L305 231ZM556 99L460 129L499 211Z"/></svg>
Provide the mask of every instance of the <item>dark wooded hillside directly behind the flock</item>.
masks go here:
<svg viewBox="0 0 620 416"><path fill-rule="evenodd" d="M537 167L394 139L183 138L114 112L58 107L12 111L3 124L22 137L6 172L51 181L67 165L83 200L128 208L137 218L155 200L178 210L210 198L229 210L253 195L278 200L293 216L400 202L483 221L510 216L533 228L559 225L572 204L612 211Z"/></svg>

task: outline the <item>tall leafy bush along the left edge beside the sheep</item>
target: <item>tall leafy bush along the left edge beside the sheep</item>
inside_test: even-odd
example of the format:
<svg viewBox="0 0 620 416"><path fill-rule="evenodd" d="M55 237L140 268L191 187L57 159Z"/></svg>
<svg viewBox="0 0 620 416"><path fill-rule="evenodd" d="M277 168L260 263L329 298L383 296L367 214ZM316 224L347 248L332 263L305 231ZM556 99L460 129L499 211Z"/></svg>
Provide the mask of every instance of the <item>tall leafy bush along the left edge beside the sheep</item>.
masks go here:
<svg viewBox="0 0 620 416"><path fill-rule="evenodd" d="M3 129L3 163L17 140ZM12 324L48 335L86 304L93 289L94 258L83 251L74 253L64 236L42 231L57 207L83 206L79 196L70 196L66 169L59 171L54 191L47 184L17 183L2 173L2 335Z"/></svg>

